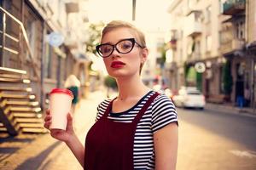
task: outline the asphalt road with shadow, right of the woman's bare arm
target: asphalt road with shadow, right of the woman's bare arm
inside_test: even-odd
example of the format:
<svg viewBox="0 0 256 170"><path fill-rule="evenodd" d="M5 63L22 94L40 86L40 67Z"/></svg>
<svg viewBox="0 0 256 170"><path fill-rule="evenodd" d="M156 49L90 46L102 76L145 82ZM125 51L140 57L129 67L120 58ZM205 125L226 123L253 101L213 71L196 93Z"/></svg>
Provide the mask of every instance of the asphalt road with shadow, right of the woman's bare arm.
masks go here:
<svg viewBox="0 0 256 170"><path fill-rule="evenodd" d="M177 109L177 170L256 170L256 117Z"/></svg>

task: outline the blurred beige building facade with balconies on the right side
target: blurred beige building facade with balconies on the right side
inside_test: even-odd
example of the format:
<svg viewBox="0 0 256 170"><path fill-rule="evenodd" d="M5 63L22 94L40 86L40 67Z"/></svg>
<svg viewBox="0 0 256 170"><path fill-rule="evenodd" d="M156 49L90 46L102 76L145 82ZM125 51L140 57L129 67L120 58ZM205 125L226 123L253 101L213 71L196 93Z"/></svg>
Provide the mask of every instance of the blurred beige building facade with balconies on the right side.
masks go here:
<svg viewBox="0 0 256 170"><path fill-rule="evenodd" d="M175 87L197 86L209 102L237 105L242 97L243 105L252 107L253 51L247 47L255 41L254 1L174 0L169 13L178 68L173 74L180 83ZM196 70L199 63L202 71Z"/></svg>

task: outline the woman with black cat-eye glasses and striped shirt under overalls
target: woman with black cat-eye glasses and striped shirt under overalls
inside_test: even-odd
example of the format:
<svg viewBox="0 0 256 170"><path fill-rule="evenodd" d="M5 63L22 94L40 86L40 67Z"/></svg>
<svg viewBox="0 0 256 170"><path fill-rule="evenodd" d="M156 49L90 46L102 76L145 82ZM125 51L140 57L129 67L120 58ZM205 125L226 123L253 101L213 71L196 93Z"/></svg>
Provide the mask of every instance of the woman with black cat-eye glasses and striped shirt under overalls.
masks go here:
<svg viewBox="0 0 256 170"><path fill-rule="evenodd" d="M171 99L147 88L141 78L148 57L145 37L135 26L112 21L96 47L108 74L116 79L118 96L102 101L85 149L67 116L66 132L51 132L66 142L84 169L175 169L177 114ZM50 115L45 117L49 128Z"/></svg>

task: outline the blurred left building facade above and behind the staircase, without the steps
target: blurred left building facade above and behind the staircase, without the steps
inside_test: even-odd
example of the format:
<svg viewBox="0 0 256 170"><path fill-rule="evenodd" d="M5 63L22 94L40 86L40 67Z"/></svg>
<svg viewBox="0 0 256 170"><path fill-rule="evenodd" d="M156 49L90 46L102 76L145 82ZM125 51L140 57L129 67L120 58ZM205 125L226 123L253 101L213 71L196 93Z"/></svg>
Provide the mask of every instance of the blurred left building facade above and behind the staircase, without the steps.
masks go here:
<svg viewBox="0 0 256 170"><path fill-rule="evenodd" d="M63 88L70 74L82 80L86 95L90 61L85 57L82 31L88 18L79 4L50 0L0 3L1 67L26 71L42 106L50 90Z"/></svg>

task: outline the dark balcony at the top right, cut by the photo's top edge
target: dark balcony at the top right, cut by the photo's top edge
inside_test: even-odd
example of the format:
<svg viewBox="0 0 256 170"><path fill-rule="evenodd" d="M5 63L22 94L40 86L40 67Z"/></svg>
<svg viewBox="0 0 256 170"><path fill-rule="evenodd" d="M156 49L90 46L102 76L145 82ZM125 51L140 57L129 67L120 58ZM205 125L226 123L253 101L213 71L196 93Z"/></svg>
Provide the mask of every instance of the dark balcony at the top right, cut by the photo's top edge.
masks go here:
<svg viewBox="0 0 256 170"><path fill-rule="evenodd" d="M223 4L223 14L235 15L246 8L246 0L227 0Z"/></svg>

